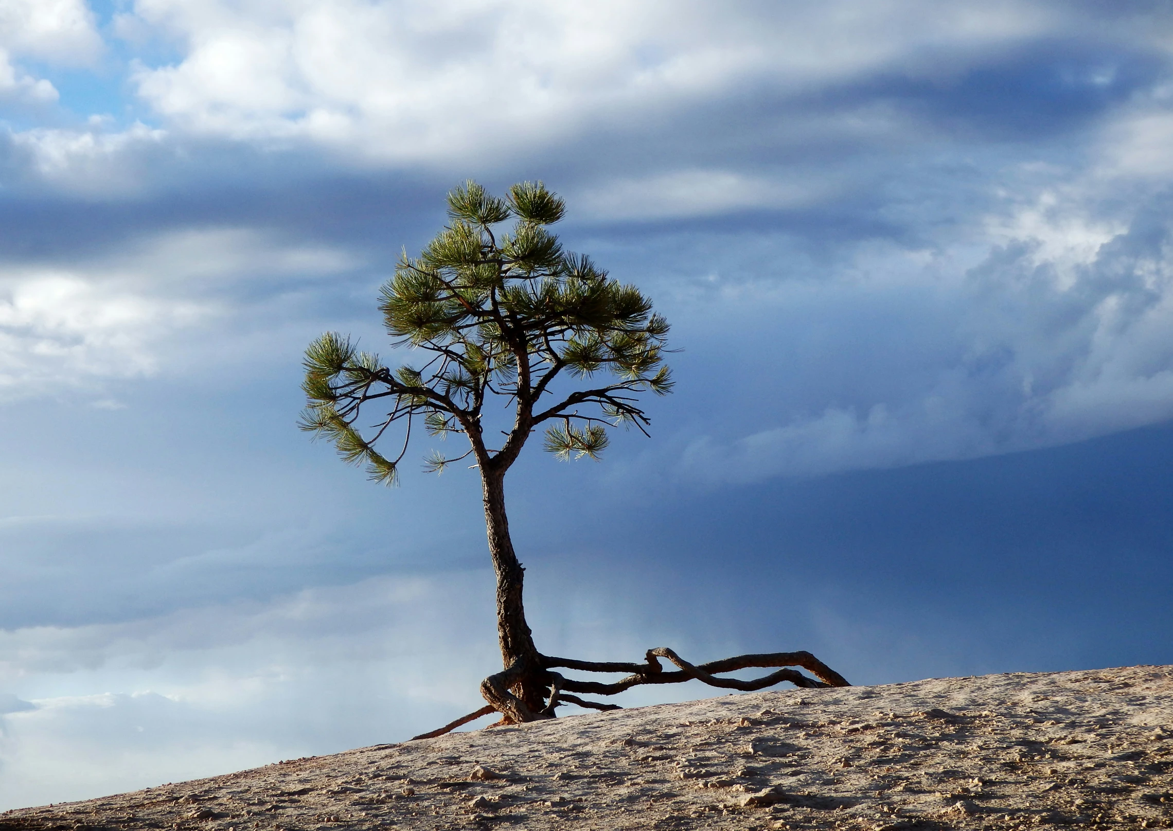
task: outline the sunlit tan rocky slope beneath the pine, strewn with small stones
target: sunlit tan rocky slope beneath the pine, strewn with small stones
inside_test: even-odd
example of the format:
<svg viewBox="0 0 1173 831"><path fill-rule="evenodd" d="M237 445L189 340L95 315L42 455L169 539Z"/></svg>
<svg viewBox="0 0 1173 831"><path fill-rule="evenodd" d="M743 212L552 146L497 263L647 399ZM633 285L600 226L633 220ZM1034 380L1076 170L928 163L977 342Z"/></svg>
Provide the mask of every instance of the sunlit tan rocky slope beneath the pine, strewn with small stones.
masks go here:
<svg viewBox="0 0 1173 831"><path fill-rule="evenodd" d="M1173 827L1173 667L784 690L292 759L0 831Z"/></svg>

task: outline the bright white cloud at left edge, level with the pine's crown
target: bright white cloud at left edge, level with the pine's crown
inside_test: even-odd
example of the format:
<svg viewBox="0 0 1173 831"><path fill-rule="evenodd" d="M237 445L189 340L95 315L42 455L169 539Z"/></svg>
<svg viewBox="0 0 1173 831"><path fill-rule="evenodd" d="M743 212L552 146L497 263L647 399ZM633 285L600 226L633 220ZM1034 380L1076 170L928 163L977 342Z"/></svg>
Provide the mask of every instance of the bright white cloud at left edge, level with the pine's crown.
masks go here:
<svg viewBox="0 0 1173 831"><path fill-rule="evenodd" d="M0 398L99 389L163 362L198 362L224 345L206 332L238 312L233 284L353 265L337 249L215 228L154 235L82 262L0 262Z"/></svg>

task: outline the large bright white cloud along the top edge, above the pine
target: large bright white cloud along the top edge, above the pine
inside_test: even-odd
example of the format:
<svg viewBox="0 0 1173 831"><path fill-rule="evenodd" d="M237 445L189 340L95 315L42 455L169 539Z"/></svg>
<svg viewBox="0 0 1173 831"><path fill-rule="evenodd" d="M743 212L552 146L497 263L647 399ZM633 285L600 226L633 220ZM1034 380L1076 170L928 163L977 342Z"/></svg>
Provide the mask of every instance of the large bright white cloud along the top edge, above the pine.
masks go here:
<svg viewBox="0 0 1173 831"><path fill-rule="evenodd" d="M138 0L181 45L138 94L184 129L308 140L372 160L502 158L767 82L802 92L1056 25L1036 4ZM915 25L913 25L915 21Z"/></svg>

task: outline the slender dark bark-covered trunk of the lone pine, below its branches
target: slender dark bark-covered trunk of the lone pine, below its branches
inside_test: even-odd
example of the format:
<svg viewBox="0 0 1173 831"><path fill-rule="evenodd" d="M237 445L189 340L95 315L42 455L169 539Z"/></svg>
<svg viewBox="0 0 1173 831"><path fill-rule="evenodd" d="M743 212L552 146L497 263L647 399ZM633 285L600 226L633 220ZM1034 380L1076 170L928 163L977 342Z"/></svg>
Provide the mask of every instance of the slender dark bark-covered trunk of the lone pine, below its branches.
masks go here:
<svg viewBox="0 0 1173 831"><path fill-rule="evenodd" d="M497 575L497 637L501 660L508 669L522 661L524 669L514 685L514 695L534 712L545 707L544 670L522 604L522 585L526 569L517 561L513 540L509 539L509 519L506 515L504 472L481 469L484 494L484 527L489 538L489 554Z"/></svg>

